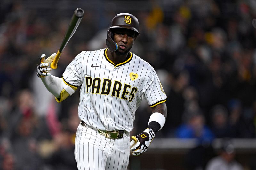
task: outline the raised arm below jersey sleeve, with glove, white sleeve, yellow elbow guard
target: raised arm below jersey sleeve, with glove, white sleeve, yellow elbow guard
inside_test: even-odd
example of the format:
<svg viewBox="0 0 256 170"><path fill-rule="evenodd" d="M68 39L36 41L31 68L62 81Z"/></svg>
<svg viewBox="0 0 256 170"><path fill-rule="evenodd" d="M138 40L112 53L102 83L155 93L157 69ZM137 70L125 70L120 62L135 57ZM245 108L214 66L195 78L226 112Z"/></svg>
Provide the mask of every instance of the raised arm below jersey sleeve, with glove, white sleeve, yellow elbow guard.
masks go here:
<svg viewBox="0 0 256 170"><path fill-rule="evenodd" d="M51 92L58 103L65 100L68 96L72 95L77 87L71 87L64 83L62 78L51 75L50 64L52 63L56 53L45 59L45 54L40 57L40 64L37 65L36 74L41 78L44 86Z"/></svg>

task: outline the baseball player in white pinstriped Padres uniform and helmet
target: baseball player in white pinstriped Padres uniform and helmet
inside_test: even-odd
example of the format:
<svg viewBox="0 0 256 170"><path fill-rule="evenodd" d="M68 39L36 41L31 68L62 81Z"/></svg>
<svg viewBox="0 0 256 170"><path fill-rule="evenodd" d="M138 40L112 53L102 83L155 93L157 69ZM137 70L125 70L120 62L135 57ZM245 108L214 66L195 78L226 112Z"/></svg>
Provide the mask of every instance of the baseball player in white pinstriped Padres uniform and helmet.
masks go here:
<svg viewBox="0 0 256 170"><path fill-rule="evenodd" d="M72 95L78 86L81 120L75 141L78 169L127 169L130 150L145 152L165 123L166 94L154 68L130 52L139 35L138 19L129 13L116 15L108 28L107 49L82 51L68 65L62 78L51 75L50 63L56 53L37 66L37 75L57 102ZM132 136L135 111L142 99L152 114L148 127Z"/></svg>

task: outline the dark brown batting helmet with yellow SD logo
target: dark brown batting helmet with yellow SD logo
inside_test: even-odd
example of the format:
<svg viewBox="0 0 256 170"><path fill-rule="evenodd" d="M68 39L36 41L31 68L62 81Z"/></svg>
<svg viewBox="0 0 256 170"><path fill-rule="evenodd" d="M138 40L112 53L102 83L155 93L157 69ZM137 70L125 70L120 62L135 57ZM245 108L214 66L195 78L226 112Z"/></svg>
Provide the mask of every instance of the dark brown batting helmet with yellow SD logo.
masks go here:
<svg viewBox="0 0 256 170"><path fill-rule="evenodd" d="M129 13L120 13L117 14L111 21L108 27L106 45L110 49L110 51L116 51L118 49L118 45L114 42L114 34L112 33L112 28L126 28L135 32L135 37L137 37L139 33L139 21L138 19Z"/></svg>

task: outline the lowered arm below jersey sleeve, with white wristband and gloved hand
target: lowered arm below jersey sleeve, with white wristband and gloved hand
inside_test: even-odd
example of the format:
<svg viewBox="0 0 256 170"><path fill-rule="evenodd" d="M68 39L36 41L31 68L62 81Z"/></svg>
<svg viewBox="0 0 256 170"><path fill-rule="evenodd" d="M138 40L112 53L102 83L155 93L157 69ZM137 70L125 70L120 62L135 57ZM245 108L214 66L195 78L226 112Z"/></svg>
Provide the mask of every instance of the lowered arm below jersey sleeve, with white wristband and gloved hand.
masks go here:
<svg viewBox="0 0 256 170"><path fill-rule="evenodd" d="M148 127L141 134L132 136L130 142L132 155L137 156L146 152L157 131L162 129L167 117L165 102L152 107L152 114L148 121Z"/></svg>

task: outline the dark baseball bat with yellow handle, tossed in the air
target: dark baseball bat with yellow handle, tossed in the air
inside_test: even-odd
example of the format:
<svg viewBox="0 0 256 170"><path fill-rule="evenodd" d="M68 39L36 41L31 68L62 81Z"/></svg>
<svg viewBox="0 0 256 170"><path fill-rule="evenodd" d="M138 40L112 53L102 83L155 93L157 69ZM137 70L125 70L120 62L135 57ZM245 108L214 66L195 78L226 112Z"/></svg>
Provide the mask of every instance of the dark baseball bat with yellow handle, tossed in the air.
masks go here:
<svg viewBox="0 0 256 170"><path fill-rule="evenodd" d="M51 68L52 69L57 69L57 63L60 59L60 55L62 53L62 51L64 50L64 48L66 47L68 41L70 40L70 38L74 35L74 33L76 32L77 27L79 26L82 17L84 16L84 10L81 8L77 8L68 24L68 28L66 31L66 34L63 38L63 41L60 45L60 48L57 52L56 57L54 58L54 60L51 63Z"/></svg>

